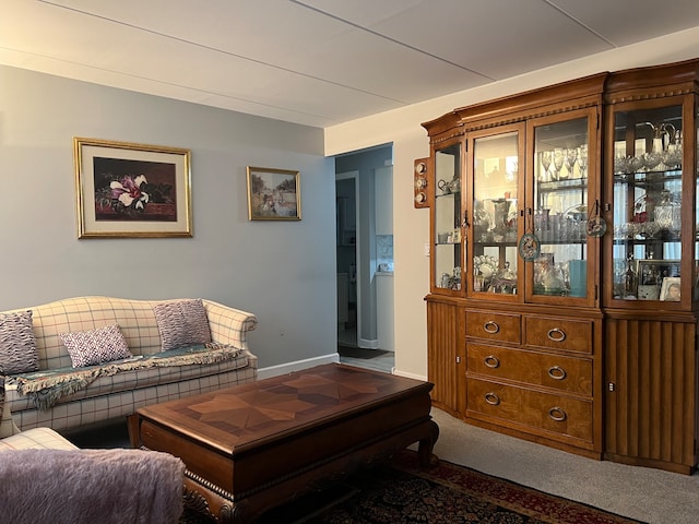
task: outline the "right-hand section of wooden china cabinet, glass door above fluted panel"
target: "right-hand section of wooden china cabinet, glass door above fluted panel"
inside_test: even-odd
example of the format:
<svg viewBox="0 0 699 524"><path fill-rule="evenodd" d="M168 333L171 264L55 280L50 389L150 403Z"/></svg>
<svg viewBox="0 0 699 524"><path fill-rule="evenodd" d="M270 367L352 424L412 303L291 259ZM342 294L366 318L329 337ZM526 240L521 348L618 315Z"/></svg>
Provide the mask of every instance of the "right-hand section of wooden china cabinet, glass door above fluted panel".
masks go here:
<svg viewBox="0 0 699 524"><path fill-rule="evenodd" d="M697 81L691 61L605 93L605 456L691 473L697 452Z"/></svg>

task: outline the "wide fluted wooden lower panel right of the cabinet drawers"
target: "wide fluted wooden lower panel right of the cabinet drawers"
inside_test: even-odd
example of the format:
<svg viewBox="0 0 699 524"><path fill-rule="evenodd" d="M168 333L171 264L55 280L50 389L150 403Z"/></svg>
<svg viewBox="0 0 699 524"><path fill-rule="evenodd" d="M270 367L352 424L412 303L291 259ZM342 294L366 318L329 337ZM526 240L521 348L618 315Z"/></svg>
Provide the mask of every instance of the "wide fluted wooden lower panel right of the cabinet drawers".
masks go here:
<svg viewBox="0 0 699 524"><path fill-rule="evenodd" d="M695 322L608 319L608 458L690 473L697 464Z"/></svg>

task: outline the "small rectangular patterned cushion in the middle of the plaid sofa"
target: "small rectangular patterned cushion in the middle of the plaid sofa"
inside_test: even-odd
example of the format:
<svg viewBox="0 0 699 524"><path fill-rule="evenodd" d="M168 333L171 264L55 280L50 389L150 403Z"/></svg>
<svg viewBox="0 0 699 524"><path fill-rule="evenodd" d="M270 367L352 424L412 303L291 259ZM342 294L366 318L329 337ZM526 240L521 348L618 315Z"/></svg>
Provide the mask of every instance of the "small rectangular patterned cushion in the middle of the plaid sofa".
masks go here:
<svg viewBox="0 0 699 524"><path fill-rule="evenodd" d="M110 362L132 356L118 324L90 331L61 333L60 337L68 348L73 368Z"/></svg>

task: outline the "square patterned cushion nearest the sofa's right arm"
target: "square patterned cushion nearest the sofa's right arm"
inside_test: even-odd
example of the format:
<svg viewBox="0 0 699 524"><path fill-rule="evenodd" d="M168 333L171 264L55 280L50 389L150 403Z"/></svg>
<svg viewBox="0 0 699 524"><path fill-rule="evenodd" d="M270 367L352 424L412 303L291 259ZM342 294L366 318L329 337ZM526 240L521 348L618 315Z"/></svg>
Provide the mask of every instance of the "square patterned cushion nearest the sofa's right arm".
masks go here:
<svg viewBox="0 0 699 524"><path fill-rule="evenodd" d="M202 300L173 300L153 306L163 350L211 342L209 319Z"/></svg>

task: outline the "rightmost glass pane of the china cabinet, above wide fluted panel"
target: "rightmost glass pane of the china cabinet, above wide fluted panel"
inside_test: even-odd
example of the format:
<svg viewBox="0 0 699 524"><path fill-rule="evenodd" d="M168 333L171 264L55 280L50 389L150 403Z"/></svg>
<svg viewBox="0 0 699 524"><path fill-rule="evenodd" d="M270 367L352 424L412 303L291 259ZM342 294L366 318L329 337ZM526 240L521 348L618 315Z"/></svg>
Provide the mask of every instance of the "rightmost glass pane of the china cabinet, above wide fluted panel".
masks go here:
<svg viewBox="0 0 699 524"><path fill-rule="evenodd" d="M682 282L683 133L682 104L614 112L613 300L677 302L694 287Z"/></svg>

